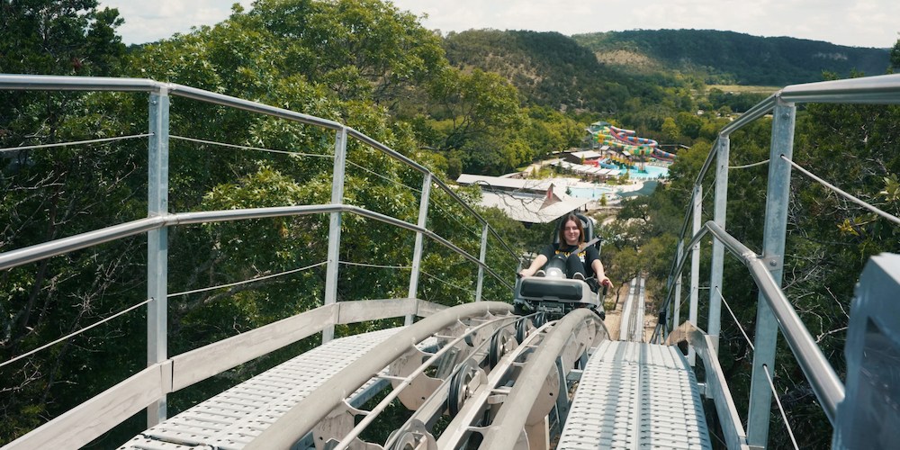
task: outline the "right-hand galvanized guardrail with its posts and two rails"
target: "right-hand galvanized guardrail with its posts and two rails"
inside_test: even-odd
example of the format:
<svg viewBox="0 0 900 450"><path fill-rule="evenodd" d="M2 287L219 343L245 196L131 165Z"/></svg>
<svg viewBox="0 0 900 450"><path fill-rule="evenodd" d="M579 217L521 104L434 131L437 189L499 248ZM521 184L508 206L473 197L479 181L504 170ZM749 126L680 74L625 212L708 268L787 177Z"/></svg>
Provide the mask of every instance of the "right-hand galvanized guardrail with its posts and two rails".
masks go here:
<svg viewBox="0 0 900 450"><path fill-rule="evenodd" d="M668 293L662 303L661 311L673 309L670 319L679 316L680 306L673 305L674 297L680 297L680 280L682 269L691 254L690 318L696 318L698 310L698 267L699 243L708 232L714 235L713 257L709 290L721 291L723 274L723 248L742 259L748 266L751 275L760 287L761 314L757 320L756 352L754 353L751 386L751 405L748 424L747 441L750 446L766 446L768 440L768 420L771 405L771 392L768 387L766 371L771 371L775 359L775 341L781 329L788 339L791 350L799 364L804 368L807 379L813 385L819 401L828 419L834 421L835 407L843 398L843 386L834 374L833 368L822 356L821 350L809 336L803 322L784 296L781 284L782 265L784 259L785 238L788 220L788 191L790 184L790 159L793 153L795 103L866 103L866 104L900 104L900 75L867 76L836 81L824 81L804 85L789 85L778 93L772 94L761 103L754 105L737 120L729 123L719 132L719 137L707 155L694 183L689 206L680 230L680 253L673 258ZM772 140L770 148L769 186L766 193L766 218L762 257L757 257L749 248L736 241L725 232L728 185L728 158L730 152L730 136L744 126L768 114L772 114ZM715 206L714 220L702 225L702 197L704 179L715 166ZM692 234L688 238L689 223L693 221ZM689 244L681 245L686 240ZM688 251L689 248L692 251ZM765 263L765 264L764 264ZM714 352L717 352L720 329L720 302L710 296L709 324L707 331ZM665 316L663 316L665 317ZM667 329L674 329L677 324L661 323L654 332L657 341L665 338ZM667 328L668 327L668 328ZM693 349L691 350L691 356Z"/></svg>

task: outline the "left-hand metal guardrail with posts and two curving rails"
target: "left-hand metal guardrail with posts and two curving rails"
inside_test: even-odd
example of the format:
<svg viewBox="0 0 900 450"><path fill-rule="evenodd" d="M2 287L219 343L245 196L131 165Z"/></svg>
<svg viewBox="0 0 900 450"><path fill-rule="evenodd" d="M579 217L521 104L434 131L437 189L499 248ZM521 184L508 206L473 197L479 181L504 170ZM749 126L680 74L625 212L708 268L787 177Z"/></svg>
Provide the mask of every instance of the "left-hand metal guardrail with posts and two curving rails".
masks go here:
<svg viewBox="0 0 900 450"><path fill-rule="evenodd" d="M149 94L148 217L145 219L133 220L126 223L117 224L103 229L96 229L68 238L52 240L31 247L19 248L0 254L0 270L4 270L14 266L21 266L23 264L38 261L44 258L62 255L79 248L92 247L104 242L110 242L120 238L147 233L148 298L151 299L151 301L148 302L149 368L159 368L163 367L164 365L171 366L174 359L184 359L187 357L185 356L187 354L184 354L182 356L175 356L175 358L170 358L166 355L166 274L168 269L166 264L167 247L165 245L165 242L166 229L173 226L223 220L247 220L288 215L323 213L330 214L331 221L329 227L329 266L328 278L325 284L326 306L333 306L334 303L337 302L336 292L338 273L338 246L340 243L340 214L342 213L351 213L373 220L379 220L401 229L408 229L417 233L413 256L413 270L410 274L410 298L416 297L419 278L419 258L421 255L422 247L421 237L423 236L437 241L444 247L447 247L461 257L464 257L467 261L473 263L475 266L478 266L478 289L475 294L476 300L481 300L482 277L484 272L487 272L488 275L491 275L491 277L500 282L500 284L509 288L510 291L512 290L512 285L509 284L509 282L502 278L500 274L494 271L485 262L488 233L490 232L490 234L494 238L496 238L498 242L500 242L500 246L507 254L509 254L510 257L512 257L513 259L518 259L518 253L515 252L511 247L509 247L509 245L504 242L502 238L500 238L500 235L496 232L496 230L491 228L487 220L485 220L477 211L475 211L473 207L466 204L459 197L459 195L457 195L454 190L450 188L449 185L441 181L437 177L437 175L432 173L427 167L419 165L409 157L405 157L397 151L392 150L392 148L383 145L381 142L378 142L377 140L366 136L364 133L349 128L337 121L330 121L308 114L303 114L301 112L293 112L284 108L278 108L263 103L251 102L225 94L212 93L190 86L177 85L172 83L161 83L150 79L0 74L0 90L145 92ZM317 126L326 130L335 130L335 168L333 172L331 204L257 208L250 210L230 211L199 211L175 213L166 211L168 207L167 165L169 95L190 98L204 103L219 104L247 112L265 114L288 121L296 121ZM406 166L412 167L413 169L419 171L424 175L424 185L420 202L418 224L412 224L405 220L396 219L378 212L368 211L365 208L343 204L343 175L344 165L346 163L348 136L357 139L370 148L374 148L380 152L383 152L387 156L392 157L393 159L401 162ZM481 254L479 256L476 257L469 254L461 247L456 246L449 239L441 237L437 235L437 233L428 229L426 223L428 217L428 193L430 191L431 184L437 184L437 186L445 191L455 202L459 202L459 204L462 205L465 211L468 211L476 220L482 223L482 248ZM409 310L406 312L407 321L410 322L412 320L412 314L414 313L414 311ZM376 314L376 316L378 315ZM314 329L316 329L315 332L321 331L323 339L328 340L333 334L333 326L337 323L340 323L340 320L325 320L323 325L324 329ZM224 366L233 366L231 365L231 360L229 358L226 358L223 361L216 361L211 364L217 367L216 370L219 370L220 367ZM227 370L227 367L222 370ZM163 372L171 373L169 369L165 369L163 370ZM161 397L157 397L157 404L150 406L150 408L148 409L148 424L153 425L160 419L164 419L166 417L165 395L167 392L172 392L171 383L175 383L175 385L179 388L184 387L186 385L189 385L190 383L195 383L203 379L203 377L211 376L211 374L213 374L212 372L201 368L198 369L198 371L195 371L195 374L185 378L181 382L175 383L173 382L173 380L169 379L169 381L166 382L169 384L162 385L156 391L154 391L157 392L158 395L161 395ZM146 375L141 376L146 378ZM152 378L156 375L149 376ZM113 397L114 396L115 395L113 395ZM108 401L109 399L106 400ZM143 408L143 406L141 408ZM94 410L94 412L95 411L96 410ZM122 413L121 408L112 408L112 410L104 409L103 411L106 411L103 413L103 415L107 419L109 419L110 417L117 417L120 419L119 421L128 419L128 417L130 417L130 415L135 412L129 410L130 412L128 413ZM58 420L65 420L66 417L71 417L71 415L67 414L66 416L60 417ZM97 437L103 434L106 429L91 428L92 431L90 432L93 432L95 434L94 437Z"/></svg>

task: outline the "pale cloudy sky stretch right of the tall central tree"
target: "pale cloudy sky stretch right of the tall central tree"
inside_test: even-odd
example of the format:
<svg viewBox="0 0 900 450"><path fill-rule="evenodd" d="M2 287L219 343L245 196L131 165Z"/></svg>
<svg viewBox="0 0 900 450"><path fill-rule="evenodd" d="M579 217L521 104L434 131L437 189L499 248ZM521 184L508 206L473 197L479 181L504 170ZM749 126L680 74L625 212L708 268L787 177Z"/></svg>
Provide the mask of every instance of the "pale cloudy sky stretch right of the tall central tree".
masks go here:
<svg viewBox="0 0 900 450"><path fill-rule="evenodd" d="M789 36L857 47L892 47L900 35L896 0L393 0L427 13L441 31L472 28L596 31L693 28Z"/></svg>

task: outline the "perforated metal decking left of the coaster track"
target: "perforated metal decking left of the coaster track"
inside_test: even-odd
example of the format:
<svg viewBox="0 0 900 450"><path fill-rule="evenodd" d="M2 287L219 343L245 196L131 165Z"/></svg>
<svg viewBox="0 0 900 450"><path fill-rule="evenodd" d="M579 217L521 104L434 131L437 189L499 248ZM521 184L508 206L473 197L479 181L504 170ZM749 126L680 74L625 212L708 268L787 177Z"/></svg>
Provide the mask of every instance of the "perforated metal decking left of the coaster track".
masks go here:
<svg viewBox="0 0 900 450"><path fill-rule="evenodd" d="M335 339L149 428L119 450L239 449L397 329Z"/></svg>

